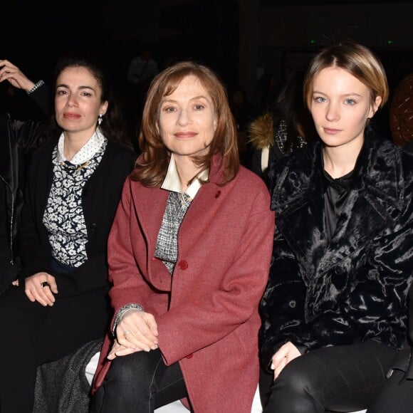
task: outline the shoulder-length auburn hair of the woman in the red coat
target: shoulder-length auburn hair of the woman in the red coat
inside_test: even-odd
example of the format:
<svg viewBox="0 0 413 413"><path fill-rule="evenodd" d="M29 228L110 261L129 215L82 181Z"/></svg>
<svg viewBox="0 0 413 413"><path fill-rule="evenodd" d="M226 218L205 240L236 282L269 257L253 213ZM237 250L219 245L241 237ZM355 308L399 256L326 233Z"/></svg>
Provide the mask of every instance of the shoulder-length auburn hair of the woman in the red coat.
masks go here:
<svg viewBox="0 0 413 413"><path fill-rule="evenodd" d="M234 179L239 171L239 152L236 139L236 122L231 113L224 84L213 70L199 63L183 61L164 69L150 85L142 113L139 147L142 155L135 163L131 178L145 187L158 187L167 174L169 151L162 142L159 128L162 98L177 89L188 75L196 76L211 96L217 120L216 131L206 155L194 157L194 162L202 169L209 169L211 157L221 155L224 167L224 185Z"/></svg>

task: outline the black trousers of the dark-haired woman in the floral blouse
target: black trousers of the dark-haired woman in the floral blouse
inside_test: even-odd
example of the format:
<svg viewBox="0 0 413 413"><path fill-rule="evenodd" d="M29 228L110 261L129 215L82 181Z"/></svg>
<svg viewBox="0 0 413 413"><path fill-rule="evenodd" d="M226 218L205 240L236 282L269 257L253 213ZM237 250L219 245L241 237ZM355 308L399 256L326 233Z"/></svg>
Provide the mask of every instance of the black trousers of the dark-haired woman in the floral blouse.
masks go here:
<svg viewBox="0 0 413 413"><path fill-rule="evenodd" d="M57 297L52 307L31 303L23 288L11 286L4 291L0 296L0 412L31 413L37 367L102 338L109 314L105 289Z"/></svg>

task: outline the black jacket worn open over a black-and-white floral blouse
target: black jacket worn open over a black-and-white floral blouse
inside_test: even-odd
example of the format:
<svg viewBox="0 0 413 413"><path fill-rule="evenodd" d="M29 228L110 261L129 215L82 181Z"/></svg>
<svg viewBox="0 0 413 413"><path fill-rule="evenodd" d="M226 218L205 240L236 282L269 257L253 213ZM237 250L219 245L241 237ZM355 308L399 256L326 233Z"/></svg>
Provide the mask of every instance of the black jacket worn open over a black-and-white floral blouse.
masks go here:
<svg viewBox="0 0 413 413"><path fill-rule="evenodd" d="M43 225L48 194L53 182L52 152L58 140L47 142L33 153L28 169L21 225L21 260L24 278L45 271L56 277L58 296L73 296L108 288L107 239L123 182L132 170L135 154L108 141L105 154L83 188L83 213L88 229L88 261L70 274L51 268L51 245Z"/></svg>

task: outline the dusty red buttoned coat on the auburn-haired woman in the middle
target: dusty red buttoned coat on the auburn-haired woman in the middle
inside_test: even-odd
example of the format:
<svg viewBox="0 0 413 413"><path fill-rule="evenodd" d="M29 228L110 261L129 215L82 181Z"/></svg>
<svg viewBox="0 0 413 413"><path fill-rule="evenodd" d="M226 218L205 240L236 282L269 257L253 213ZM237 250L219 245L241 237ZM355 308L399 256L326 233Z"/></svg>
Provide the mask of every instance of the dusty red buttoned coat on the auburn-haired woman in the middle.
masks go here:
<svg viewBox="0 0 413 413"><path fill-rule="evenodd" d="M115 311L140 303L155 315L164 362L179 362L195 412L250 413L274 215L261 178L244 167L224 187L219 177L213 165L189 206L172 277L153 258L168 192L126 180L108 241L110 298ZM111 345L106 337L93 392Z"/></svg>

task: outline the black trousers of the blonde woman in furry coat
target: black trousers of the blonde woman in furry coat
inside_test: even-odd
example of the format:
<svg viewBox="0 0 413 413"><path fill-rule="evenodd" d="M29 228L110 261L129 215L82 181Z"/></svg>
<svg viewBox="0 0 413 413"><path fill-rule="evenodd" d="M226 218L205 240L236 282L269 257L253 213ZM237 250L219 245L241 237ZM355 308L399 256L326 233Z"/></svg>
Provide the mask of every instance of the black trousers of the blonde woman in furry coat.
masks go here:
<svg viewBox="0 0 413 413"><path fill-rule="evenodd" d="M366 409L396 355L396 350L374 341L305 353L289 362L273 381L263 413Z"/></svg>

